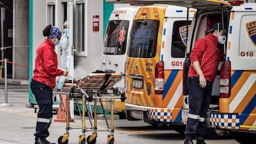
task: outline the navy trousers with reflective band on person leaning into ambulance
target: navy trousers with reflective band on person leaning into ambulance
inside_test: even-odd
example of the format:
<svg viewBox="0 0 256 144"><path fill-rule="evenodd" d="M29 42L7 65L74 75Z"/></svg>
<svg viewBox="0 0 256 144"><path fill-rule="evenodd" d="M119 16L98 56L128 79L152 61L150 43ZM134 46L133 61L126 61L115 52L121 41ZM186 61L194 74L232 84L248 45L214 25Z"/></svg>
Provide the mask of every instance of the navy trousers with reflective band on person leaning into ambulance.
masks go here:
<svg viewBox="0 0 256 144"><path fill-rule="evenodd" d="M188 120L185 135L188 138L204 139L206 136L206 114L210 105L212 82L206 87L199 85L199 77L188 77Z"/></svg>

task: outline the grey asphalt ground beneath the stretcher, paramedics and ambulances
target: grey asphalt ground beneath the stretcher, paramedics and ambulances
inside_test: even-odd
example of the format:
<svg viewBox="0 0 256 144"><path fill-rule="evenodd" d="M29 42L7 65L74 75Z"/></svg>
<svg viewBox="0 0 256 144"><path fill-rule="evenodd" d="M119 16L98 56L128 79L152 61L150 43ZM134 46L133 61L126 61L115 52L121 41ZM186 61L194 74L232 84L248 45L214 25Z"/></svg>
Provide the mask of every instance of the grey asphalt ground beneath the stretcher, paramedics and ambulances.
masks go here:
<svg viewBox="0 0 256 144"><path fill-rule="evenodd" d="M21 84L22 83L22 84ZM5 85L0 84L0 144L32 144L34 143L33 133L36 129L36 113L28 104L28 84L21 82L19 84L8 84L8 104L11 106L2 106L5 104ZM55 113L53 119L56 118ZM107 143L107 124L98 115L97 121L97 143ZM70 123L71 130L68 137L69 143L79 143L79 136L82 135L82 120L78 114L73 118L75 122ZM93 122L93 121L92 121ZM110 121L108 121L110 123ZM85 136L92 134L90 121L85 119L87 131ZM49 141L58 143L58 138L62 136L65 130L65 122L53 121L50 126ZM143 121L127 121L126 119L114 120L114 143L116 144L170 144L183 143L183 135L176 133L170 127L156 128ZM196 143L196 141L194 141ZM233 139L227 140L206 140L206 143L237 143Z"/></svg>

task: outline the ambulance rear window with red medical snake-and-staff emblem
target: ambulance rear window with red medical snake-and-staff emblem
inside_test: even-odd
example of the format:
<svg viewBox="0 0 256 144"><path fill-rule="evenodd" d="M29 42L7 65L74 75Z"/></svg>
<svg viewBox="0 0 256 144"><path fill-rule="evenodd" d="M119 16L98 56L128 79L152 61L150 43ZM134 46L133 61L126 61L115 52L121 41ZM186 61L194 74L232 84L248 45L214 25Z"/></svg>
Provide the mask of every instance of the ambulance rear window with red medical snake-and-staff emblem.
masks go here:
<svg viewBox="0 0 256 144"><path fill-rule="evenodd" d="M105 35L105 55L124 55L129 21L110 21Z"/></svg>

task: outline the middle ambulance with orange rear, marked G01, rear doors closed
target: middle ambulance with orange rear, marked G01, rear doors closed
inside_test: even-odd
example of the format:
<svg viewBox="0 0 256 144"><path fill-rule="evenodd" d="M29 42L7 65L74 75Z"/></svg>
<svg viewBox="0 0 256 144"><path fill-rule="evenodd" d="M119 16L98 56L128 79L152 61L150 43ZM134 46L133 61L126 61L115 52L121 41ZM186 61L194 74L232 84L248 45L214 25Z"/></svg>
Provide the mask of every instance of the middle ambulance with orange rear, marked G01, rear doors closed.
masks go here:
<svg viewBox="0 0 256 144"><path fill-rule="evenodd" d="M193 11L151 5L137 10L125 62L128 120L163 126L181 123L182 62Z"/></svg>

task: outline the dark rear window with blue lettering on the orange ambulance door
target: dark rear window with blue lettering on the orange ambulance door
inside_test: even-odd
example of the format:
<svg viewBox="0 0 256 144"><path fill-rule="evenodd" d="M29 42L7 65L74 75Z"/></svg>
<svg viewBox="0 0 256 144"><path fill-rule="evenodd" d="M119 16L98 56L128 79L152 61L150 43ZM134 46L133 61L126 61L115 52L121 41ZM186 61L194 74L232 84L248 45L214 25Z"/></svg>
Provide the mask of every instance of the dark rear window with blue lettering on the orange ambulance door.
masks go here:
<svg viewBox="0 0 256 144"><path fill-rule="evenodd" d="M137 20L132 23L129 57L149 58L156 55L159 21Z"/></svg>

